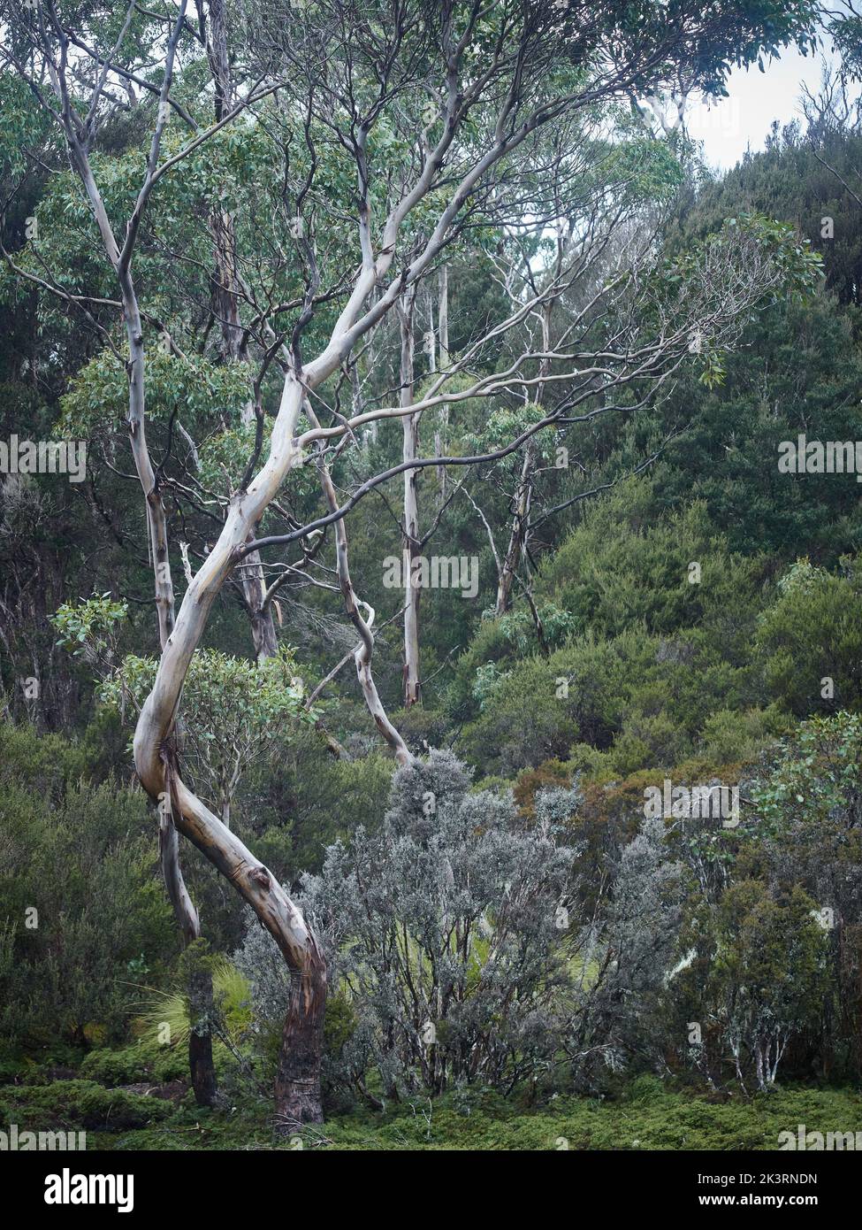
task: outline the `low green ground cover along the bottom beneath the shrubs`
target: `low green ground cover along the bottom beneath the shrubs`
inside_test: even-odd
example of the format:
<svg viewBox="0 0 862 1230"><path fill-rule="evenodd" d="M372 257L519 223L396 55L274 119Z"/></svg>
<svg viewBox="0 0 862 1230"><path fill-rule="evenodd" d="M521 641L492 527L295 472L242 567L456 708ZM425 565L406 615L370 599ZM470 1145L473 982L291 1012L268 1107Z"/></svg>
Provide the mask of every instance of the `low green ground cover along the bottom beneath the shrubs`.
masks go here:
<svg viewBox="0 0 862 1230"><path fill-rule="evenodd" d="M107 1150L776 1150L780 1133L862 1132L862 1092L799 1085L745 1097L673 1091L642 1076L611 1098L558 1095L535 1108L496 1093L417 1097L386 1112L354 1109L278 1140L267 1102L239 1096L196 1107L182 1082L108 1089L90 1080L0 1086L0 1123L86 1130Z"/></svg>

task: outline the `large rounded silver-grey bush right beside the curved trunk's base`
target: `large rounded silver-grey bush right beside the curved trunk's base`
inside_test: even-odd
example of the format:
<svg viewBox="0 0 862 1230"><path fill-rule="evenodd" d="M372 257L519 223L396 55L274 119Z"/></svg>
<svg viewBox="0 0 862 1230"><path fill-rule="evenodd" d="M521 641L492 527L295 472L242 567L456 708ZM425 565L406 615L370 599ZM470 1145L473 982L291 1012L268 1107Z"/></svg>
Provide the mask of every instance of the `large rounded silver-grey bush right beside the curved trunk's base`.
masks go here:
<svg viewBox="0 0 862 1230"><path fill-rule="evenodd" d="M470 793L451 754L400 769L379 831L330 846L322 873L304 877L331 986L354 1012L342 1079L363 1089L376 1069L387 1095L505 1086L548 1063L573 860L547 819L519 819L510 795ZM277 1017L285 991L269 946L253 929L237 963L256 1010Z"/></svg>

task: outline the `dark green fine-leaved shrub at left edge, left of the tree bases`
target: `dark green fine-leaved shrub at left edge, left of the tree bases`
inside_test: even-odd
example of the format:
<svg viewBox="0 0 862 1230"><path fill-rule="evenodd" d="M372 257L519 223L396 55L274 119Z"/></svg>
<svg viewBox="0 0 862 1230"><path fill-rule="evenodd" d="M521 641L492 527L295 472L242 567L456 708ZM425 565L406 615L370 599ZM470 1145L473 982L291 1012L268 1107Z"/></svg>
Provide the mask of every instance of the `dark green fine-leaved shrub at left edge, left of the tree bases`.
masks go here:
<svg viewBox="0 0 862 1230"><path fill-rule="evenodd" d="M23 786L10 775L20 766L1 770L0 1027L38 1047L119 1037L141 983L177 950L145 800L107 782L73 785L77 752L55 737L47 749L32 734L4 737L17 749L28 740L33 760Z"/></svg>

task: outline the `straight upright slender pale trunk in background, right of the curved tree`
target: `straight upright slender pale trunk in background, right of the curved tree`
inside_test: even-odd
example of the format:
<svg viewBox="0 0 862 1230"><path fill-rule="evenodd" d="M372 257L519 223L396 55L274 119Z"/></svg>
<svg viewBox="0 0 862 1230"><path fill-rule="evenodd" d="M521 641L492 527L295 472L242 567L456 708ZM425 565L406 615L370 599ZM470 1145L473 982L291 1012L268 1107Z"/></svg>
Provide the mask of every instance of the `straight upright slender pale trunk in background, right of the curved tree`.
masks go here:
<svg viewBox="0 0 862 1230"><path fill-rule="evenodd" d="M413 308L416 290L405 292L398 304L398 330L401 335L401 392L398 403L403 407L413 405L414 342ZM403 432L402 460L414 461L419 455L419 416L405 415L401 419ZM405 565L405 668L403 700L405 708L421 702L419 679L419 471L405 470L405 510L403 510L403 565Z"/></svg>

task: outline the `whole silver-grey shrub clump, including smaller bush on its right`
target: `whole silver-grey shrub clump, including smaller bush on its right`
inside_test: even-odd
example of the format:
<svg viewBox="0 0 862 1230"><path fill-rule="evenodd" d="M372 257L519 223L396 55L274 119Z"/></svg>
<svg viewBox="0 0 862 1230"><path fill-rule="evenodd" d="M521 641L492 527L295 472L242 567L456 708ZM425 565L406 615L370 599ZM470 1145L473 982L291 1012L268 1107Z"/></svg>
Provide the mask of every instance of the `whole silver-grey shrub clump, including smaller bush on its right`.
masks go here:
<svg viewBox="0 0 862 1230"><path fill-rule="evenodd" d="M663 823L646 820L585 918L579 844L571 829L563 844L562 828L582 802L577 782L541 791L528 824L509 793L471 793L449 753L396 772L380 829L330 846L302 881L331 991L349 1004L330 1081L384 1096L509 1089L568 1057L593 1085L649 1055L678 956L681 868ZM258 1021L278 1021L288 970L269 935L252 926L234 959Z"/></svg>

